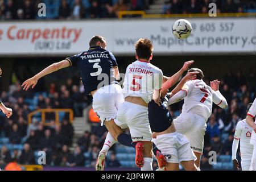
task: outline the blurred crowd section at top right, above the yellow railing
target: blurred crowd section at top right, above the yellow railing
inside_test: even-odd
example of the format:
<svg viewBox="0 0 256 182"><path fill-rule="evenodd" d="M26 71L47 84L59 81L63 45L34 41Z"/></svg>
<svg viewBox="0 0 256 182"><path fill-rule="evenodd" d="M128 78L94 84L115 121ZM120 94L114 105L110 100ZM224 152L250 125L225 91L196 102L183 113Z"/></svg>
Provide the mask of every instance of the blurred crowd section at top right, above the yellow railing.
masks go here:
<svg viewBox="0 0 256 182"><path fill-rule="evenodd" d="M253 0L166 0L163 14L208 13L210 3L215 3L217 13L246 13L256 10Z"/></svg>

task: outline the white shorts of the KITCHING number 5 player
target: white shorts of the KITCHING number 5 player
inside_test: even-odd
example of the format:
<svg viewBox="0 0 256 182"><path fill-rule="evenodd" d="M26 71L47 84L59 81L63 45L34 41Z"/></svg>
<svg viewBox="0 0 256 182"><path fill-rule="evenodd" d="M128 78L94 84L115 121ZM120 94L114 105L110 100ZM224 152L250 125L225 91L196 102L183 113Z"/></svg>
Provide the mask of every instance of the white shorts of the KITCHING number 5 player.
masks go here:
<svg viewBox="0 0 256 182"><path fill-rule="evenodd" d="M152 141L147 107L125 101L118 107L114 121L121 129L129 127L133 142Z"/></svg>

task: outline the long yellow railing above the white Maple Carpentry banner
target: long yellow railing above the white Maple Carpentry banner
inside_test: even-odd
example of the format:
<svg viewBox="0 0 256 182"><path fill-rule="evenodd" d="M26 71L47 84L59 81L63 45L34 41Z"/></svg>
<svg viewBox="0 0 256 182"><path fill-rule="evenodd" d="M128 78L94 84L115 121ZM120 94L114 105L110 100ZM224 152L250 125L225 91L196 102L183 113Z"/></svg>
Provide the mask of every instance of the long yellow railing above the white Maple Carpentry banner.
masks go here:
<svg viewBox="0 0 256 182"><path fill-rule="evenodd" d="M209 15L204 13L146 14L145 11L119 11L118 12L119 19L122 19L124 15L141 15L141 18L209 18ZM256 16L256 13L217 13L217 17L243 17L243 16Z"/></svg>

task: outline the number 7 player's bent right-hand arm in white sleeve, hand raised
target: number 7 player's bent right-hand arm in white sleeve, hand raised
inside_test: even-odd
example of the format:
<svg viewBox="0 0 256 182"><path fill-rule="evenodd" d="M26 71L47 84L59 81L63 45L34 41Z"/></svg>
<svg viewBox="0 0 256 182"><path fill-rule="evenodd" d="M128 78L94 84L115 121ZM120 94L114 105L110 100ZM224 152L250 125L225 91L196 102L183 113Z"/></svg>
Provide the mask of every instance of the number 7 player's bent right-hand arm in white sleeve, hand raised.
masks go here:
<svg viewBox="0 0 256 182"><path fill-rule="evenodd" d="M220 106L222 109L226 109L226 107L228 107L228 102L226 102L226 99L224 96L222 96L222 94L220 93L220 91L218 90L220 86L220 81L218 80L213 80L210 82L210 88L212 88L213 90L213 103Z"/></svg>

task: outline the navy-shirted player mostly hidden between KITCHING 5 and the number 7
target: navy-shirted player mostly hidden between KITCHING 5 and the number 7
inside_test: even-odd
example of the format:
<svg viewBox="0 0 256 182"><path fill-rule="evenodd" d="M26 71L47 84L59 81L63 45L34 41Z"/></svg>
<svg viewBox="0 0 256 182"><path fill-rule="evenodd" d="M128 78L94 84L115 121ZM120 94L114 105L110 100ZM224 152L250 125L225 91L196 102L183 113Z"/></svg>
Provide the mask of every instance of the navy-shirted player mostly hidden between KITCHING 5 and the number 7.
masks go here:
<svg viewBox="0 0 256 182"><path fill-rule="evenodd" d="M192 63L193 61L187 61L181 72L177 72L164 82L161 93L165 94L166 89L173 86ZM175 94L179 92L187 80L192 80L196 77L196 73L189 72L171 93ZM166 94L162 98L162 104L160 106L152 101L148 104L148 118L153 132L153 142L167 159L167 165L165 167L167 171L179 170L179 163L185 170L196 171L196 156L191 150L188 139L183 134L177 133L175 126L172 124L172 117L167 108L168 97L169 94ZM156 153L158 154L158 151Z"/></svg>

